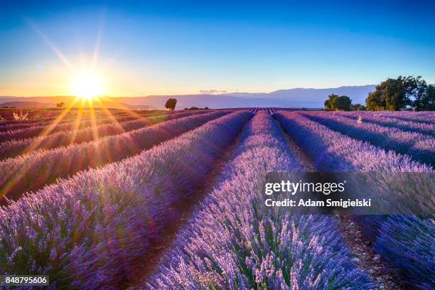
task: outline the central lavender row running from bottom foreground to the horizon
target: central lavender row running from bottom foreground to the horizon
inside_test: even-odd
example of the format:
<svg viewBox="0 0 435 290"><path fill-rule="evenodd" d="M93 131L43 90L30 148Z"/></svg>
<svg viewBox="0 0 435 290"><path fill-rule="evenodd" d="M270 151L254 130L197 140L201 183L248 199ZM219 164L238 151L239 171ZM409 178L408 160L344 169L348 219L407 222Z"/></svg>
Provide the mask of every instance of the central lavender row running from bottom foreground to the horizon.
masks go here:
<svg viewBox="0 0 435 290"><path fill-rule="evenodd" d="M301 171L267 112L242 135L221 182L179 235L151 289L369 289L335 220L267 210L269 171Z"/></svg>

